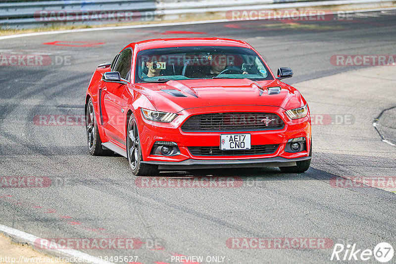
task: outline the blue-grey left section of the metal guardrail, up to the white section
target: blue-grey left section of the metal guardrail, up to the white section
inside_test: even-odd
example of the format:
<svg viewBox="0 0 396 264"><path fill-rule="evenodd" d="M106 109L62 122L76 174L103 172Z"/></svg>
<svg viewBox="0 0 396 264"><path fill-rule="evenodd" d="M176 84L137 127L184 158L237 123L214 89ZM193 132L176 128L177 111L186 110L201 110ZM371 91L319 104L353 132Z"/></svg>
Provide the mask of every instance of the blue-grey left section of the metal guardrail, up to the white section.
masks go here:
<svg viewBox="0 0 396 264"><path fill-rule="evenodd" d="M155 0L49 0L0 3L1 29L152 20ZM143 19L142 19L143 18Z"/></svg>

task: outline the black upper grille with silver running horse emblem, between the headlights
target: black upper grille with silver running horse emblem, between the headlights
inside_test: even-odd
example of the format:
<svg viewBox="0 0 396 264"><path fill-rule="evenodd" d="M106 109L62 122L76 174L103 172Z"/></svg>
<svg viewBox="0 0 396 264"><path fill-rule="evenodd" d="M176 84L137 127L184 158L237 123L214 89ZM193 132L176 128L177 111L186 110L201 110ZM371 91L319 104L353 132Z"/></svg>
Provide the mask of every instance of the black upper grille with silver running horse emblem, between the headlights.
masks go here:
<svg viewBox="0 0 396 264"><path fill-rule="evenodd" d="M190 117L182 131L261 131L282 129L283 126L282 119L273 113L214 113Z"/></svg>

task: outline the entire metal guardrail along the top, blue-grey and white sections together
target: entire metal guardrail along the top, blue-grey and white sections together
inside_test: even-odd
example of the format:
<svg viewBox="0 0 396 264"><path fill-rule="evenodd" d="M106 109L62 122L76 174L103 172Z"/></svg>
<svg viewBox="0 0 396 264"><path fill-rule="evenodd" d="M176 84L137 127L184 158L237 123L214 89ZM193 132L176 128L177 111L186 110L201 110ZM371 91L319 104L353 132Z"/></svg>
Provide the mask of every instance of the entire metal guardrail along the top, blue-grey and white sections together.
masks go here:
<svg viewBox="0 0 396 264"><path fill-rule="evenodd" d="M230 10L271 10L310 6L381 7L394 0L14 0L0 3L0 29L59 25L101 25L132 21L205 19ZM202 17L203 16L203 17Z"/></svg>

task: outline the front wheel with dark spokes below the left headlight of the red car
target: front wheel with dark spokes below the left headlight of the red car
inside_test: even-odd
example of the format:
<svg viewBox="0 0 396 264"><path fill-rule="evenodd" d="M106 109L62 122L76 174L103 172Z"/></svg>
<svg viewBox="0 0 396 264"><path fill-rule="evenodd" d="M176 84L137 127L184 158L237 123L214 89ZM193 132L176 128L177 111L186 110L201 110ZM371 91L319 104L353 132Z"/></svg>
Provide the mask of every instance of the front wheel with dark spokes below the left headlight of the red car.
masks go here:
<svg viewBox="0 0 396 264"><path fill-rule="evenodd" d="M132 114L127 126L127 158L132 173L136 176L158 174L158 166L142 163L142 148L139 139L139 130L135 117Z"/></svg>

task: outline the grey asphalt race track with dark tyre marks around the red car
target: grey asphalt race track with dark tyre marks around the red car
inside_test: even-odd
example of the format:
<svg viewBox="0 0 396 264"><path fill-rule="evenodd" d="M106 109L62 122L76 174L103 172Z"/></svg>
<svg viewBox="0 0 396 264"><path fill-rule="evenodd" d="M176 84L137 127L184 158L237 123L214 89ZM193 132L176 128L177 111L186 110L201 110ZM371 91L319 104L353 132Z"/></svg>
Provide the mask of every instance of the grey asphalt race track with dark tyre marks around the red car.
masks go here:
<svg viewBox="0 0 396 264"><path fill-rule="evenodd" d="M396 148L382 142L371 123L368 134L359 131L367 124L359 123L359 112L354 109L367 106L371 111L366 111L365 117L371 122L396 105L395 96L391 93L382 100L375 97L376 88L361 92L347 83L347 71L361 66L330 63L335 54L395 54L395 12L361 13L350 18L225 22L2 40L2 54L39 53L52 59L57 55L70 63L0 66L0 175L47 176L57 183L47 188L1 188L0 223L43 238L140 238L148 244L157 239L163 249L143 244L136 250L81 250L93 256L138 256L137 261L143 264L171 263L175 255L224 256L224 263L229 264L331 263L332 248L227 248L227 239L234 237L316 237L344 245L356 243L360 249L373 249L379 242L395 247L395 193L330 184L332 177L351 172L396 176ZM295 77L286 80L290 84L325 76L331 83L331 76L345 73L345 82L338 80L340 91L326 92L319 82L317 89L302 85L302 93L312 101L317 114L332 114L341 106L344 112L337 113L353 115L357 127L341 124L314 129L312 167L304 174L281 174L277 168L164 172L160 176L240 177L243 185L140 188L125 158L89 155L84 126L34 123L37 115L82 115L85 91L96 66L111 60L126 44L186 36L246 40L273 71L291 67ZM52 42L102 44L43 44ZM342 91L349 97L341 98L337 92ZM381 101L375 101L378 98ZM332 140L327 144L326 138ZM362 145L356 145L358 142ZM373 258L364 263L378 262Z"/></svg>

